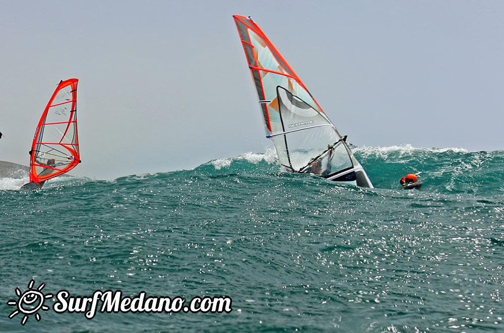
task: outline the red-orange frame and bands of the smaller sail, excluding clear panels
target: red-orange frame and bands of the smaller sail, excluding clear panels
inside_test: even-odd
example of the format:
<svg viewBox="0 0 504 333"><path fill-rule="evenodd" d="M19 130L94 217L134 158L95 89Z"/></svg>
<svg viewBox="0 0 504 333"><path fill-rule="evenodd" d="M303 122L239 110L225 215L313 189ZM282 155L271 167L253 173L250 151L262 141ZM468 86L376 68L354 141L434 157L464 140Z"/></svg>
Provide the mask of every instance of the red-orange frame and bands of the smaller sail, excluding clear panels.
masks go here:
<svg viewBox="0 0 504 333"><path fill-rule="evenodd" d="M61 176L75 168L77 164L81 162L80 154L79 154L79 141L77 136L77 78L71 78L65 81L61 81L57 86L56 90L52 94L47 106L40 117L40 121L38 122L37 129L35 130L35 135L33 137L32 147L30 151L30 183L41 183L45 182L51 178ZM71 98L67 99L65 102L56 103L52 105L54 99L58 95L58 93L67 87L70 86ZM66 105L70 106L69 117L67 121L61 122L46 122L47 114L50 108ZM65 126L66 124L66 126ZM65 128L62 131L61 139L57 142L44 141L43 140L43 132L46 126L62 126ZM69 131L73 131L70 133ZM67 134L73 134L71 142L64 142L64 140L68 139ZM42 140L41 140L42 139ZM40 140L40 141L39 141ZM68 141L68 140L67 140ZM50 150L48 152L41 152L41 147L49 147ZM42 164L38 159L41 153L48 154L50 157L58 159L58 163L56 165L48 165ZM65 156L64 154L67 154ZM63 159L61 159L63 158ZM42 172L39 172L40 168L43 168ZM37 170L39 169L39 170Z"/></svg>

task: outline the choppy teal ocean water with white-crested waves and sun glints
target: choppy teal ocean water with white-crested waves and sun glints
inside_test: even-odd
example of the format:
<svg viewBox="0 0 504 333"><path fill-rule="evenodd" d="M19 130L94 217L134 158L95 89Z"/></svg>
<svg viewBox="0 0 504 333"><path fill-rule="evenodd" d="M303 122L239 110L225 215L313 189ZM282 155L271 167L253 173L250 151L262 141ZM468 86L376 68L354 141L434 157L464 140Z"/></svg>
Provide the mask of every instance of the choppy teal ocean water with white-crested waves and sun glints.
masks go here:
<svg viewBox="0 0 504 333"><path fill-rule="evenodd" d="M281 173L273 151L41 191L0 179L0 331L504 331L504 151L354 152L375 189ZM412 172L422 189L401 190ZM232 310L87 319L49 295L10 319L16 288L37 287L227 296Z"/></svg>

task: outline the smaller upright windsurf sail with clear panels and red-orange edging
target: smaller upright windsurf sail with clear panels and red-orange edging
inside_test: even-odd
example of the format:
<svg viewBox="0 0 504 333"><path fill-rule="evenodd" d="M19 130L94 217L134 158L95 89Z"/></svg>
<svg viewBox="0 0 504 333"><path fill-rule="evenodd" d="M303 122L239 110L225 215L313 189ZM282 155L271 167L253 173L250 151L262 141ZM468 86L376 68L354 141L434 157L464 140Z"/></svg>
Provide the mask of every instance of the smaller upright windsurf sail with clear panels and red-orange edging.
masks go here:
<svg viewBox="0 0 504 333"><path fill-rule="evenodd" d="M81 162L77 139L77 78L59 82L38 122L30 150L30 183L65 174Z"/></svg>

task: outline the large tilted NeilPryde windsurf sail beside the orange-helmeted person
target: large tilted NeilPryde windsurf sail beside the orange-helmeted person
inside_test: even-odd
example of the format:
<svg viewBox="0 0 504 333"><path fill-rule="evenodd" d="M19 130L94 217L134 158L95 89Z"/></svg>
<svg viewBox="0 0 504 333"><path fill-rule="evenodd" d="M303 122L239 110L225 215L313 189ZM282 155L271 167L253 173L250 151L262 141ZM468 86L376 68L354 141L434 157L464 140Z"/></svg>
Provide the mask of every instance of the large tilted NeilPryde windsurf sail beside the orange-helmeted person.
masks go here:
<svg viewBox="0 0 504 333"><path fill-rule="evenodd" d="M250 18L234 15L259 96L266 137L281 165L337 182L372 188L342 136L303 82Z"/></svg>

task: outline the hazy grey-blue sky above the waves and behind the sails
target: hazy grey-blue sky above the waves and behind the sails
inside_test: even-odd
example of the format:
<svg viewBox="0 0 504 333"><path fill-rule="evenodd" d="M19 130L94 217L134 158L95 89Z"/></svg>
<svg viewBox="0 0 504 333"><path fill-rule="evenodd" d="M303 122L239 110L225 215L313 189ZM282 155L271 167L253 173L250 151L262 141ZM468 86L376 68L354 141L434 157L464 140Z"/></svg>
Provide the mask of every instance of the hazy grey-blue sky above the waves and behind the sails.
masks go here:
<svg viewBox="0 0 504 333"><path fill-rule="evenodd" d="M502 1L0 0L0 160L28 165L72 77L75 175L265 151L233 14L254 18L353 144L504 149Z"/></svg>

